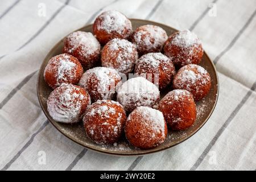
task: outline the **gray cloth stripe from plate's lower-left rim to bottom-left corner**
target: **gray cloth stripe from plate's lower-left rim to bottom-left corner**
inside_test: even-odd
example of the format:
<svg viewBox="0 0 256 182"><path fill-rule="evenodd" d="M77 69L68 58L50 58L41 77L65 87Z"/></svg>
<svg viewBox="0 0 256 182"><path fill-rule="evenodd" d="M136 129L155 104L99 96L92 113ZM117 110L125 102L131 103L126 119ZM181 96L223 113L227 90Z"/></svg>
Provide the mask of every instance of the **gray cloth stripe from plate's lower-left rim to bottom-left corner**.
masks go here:
<svg viewBox="0 0 256 182"><path fill-rule="evenodd" d="M24 152L24 150L26 150L30 146L30 144L34 141L36 135L39 134L48 125L48 123L49 123L48 119L44 121L43 125L34 134L31 135L31 138L27 141L27 143L24 144L24 146L13 156L10 162L7 163L5 167L1 169L1 171L6 171L11 166L11 164L13 164L15 160L19 158L22 152Z"/></svg>

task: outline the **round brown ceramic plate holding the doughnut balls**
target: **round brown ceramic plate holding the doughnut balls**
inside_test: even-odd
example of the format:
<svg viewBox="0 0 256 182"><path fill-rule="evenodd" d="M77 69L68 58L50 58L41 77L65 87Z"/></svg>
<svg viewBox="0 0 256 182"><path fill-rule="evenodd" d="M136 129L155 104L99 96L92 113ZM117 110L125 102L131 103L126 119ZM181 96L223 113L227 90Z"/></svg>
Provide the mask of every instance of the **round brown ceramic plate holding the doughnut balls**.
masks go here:
<svg viewBox="0 0 256 182"><path fill-rule="evenodd" d="M172 33L177 31L172 27L168 27L164 24L151 22L148 20L131 19L131 23L133 24L134 30L135 28L142 26L144 24L155 24L156 26L162 27L164 30L166 30L167 35L171 35ZM82 27L79 30L92 32L92 24ZM73 140L74 142L80 144L81 146L89 148L90 150L102 152L105 154L122 155L122 156L145 155L145 154L151 154L154 152L166 150L167 148L173 147L176 144L183 142L184 140L188 139L193 134L195 134L205 124L205 122L207 122L217 103L217 98L218 98L217 72L212 61L204 52L203 60L201 61L200 65L205 69L207 69L207 71L209 72L210 77L212 78L212 87L210 89L209 94L203 100L196 103L198 114L197 114L196 122L193 124L193 126L189 127L189 129L185 131L169 130L166 141L160 146L149 149L149 150L140 150L138 148L134 148L129 143L127 143L127 141L125 140L125 137L123 137L123 139L115 145L109 145L109 146L98 145L92 142L92 140L90 140L88 137L86 137L84 128L82 127L82 122L75 125L58 123L52 119L52 117L49 115L47 111L46 102L52 90L51 88L49 88L46 82L44 82L43 72L49 59L51 59L51 57L53 56L59 55L62 49L63 49L63 40L61 40L59 43L56 44L55 47L51 49L51 51L48 53L48 55L46 56L46 58L42 63L42 66L39 71L38 83L37 83L39 102L44 111L44 114L46 114L46 117L49 119L52 125L55 126L57 130L60 131L60 133L62 133L69 139Z"/></svg>

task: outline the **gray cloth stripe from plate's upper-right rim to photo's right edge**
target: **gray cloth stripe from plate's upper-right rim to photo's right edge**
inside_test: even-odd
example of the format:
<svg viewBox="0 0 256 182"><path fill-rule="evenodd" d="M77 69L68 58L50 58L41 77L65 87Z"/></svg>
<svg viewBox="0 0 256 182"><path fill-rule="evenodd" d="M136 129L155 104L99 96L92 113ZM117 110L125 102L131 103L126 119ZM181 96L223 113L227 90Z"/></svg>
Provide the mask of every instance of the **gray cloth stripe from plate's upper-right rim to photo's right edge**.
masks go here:
<svg viewBox="0 0 256 182"><path fill-rule="evenodd" d="M238 34L234 37L234 39L232 40L232 42L230 42L230 44L228 45L228 47L226 47L214 60L213 63L217 64L218 60L220 60L220 58L229 51L230 48L232 48L234 46L234 44L237 42L237 40L240 38L240 36L243 34L243 32L246 30L246 28L249 26L249 24L251 23L251 21L253 20L254 16L256 14L256 9L254 10L253 14L250 16L250 18L247 20L247 22L245 23L245 25L241 28L241 30L238 32Z"/></svg>

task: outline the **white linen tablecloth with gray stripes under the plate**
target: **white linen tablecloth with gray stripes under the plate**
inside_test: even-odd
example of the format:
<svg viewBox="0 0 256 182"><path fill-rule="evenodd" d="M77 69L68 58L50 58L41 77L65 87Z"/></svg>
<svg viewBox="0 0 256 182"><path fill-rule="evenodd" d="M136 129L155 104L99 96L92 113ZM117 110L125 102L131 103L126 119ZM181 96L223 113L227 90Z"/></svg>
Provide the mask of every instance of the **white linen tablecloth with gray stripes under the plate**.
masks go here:
<svg viewBox="0 0 256 182"><path fill-rule="evenodd" d="M38 69L65 35L115 9L129 18L189 28L214 60L220 96L192 138L157 154L117 157L86 150L46 119ZM0 1L0 168L2 170L256 169L256 1Z"/></svg>

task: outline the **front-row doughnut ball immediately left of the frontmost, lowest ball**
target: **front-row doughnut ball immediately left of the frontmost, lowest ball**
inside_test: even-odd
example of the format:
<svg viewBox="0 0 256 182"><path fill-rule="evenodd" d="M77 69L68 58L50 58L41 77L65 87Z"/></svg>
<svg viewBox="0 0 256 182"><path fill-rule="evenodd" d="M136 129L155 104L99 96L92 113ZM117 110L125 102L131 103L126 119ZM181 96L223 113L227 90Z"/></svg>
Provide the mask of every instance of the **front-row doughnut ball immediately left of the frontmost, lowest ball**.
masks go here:
<svg viewBox="0 0 256 182"><path fill-rule="evenodd" d="M118 102L98 100L88 107L83 121L90 139L100 144L113 144L123 133L126 115Z"/></svg>

